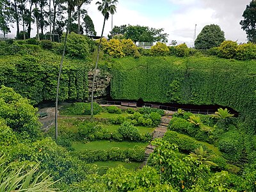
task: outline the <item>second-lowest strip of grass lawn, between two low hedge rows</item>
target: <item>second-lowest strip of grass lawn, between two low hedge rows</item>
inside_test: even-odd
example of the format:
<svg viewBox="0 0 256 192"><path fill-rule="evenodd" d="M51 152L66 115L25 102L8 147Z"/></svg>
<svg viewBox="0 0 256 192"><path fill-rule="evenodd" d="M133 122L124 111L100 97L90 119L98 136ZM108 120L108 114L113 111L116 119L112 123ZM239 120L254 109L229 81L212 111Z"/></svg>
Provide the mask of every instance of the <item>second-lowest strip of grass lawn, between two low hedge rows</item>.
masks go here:
<svg viewBox="0 0 256 192"><path fill-rule="evenodd" d="M75 150L77 151L83 151L86 149L90 149L90 150L107 150L110 149L112 147L119 147L121 149L127 149L127 148L133 148L135 145L138 145L141 148L146 148L148 143L138 143L138 142L129 142L129 141L122 141L122 142L118 142L118 141L106 141L106 140L102 140L102 141L91 141L89 143L81 143L81 142L74 142L72 144L72 147L74 147Z"/></svg>

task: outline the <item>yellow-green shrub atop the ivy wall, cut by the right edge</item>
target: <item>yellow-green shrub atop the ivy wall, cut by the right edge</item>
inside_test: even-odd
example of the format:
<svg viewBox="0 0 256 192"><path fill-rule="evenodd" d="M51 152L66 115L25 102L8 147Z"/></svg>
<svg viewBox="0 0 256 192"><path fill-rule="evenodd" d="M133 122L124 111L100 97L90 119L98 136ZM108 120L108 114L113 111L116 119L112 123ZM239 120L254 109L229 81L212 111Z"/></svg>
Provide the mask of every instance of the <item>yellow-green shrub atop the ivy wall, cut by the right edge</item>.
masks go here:
<svg viewBox="0 0 256 192"><path fill-rule="evenodd" d="M252 43L238 45L236 49L237 60L254 60L256 58L256 45Z"/></svg>

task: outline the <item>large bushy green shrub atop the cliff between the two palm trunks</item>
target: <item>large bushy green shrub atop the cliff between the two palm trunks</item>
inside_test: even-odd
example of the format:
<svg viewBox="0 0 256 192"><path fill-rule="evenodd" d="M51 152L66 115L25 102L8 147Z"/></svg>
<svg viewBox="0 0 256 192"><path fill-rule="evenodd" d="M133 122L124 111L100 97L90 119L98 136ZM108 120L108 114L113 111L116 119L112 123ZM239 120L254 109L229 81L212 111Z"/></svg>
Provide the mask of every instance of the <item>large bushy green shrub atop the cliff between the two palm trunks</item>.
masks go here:
<svg viewBox="0 0 256 192"><path fill-rule="evenodd" d="M62 38L64 39L65 34ZM63 42L63 40L62 40ZM67 36L67 56L70 58L87 58L89 55L89 46L83 35L71 32Z"/></svg>

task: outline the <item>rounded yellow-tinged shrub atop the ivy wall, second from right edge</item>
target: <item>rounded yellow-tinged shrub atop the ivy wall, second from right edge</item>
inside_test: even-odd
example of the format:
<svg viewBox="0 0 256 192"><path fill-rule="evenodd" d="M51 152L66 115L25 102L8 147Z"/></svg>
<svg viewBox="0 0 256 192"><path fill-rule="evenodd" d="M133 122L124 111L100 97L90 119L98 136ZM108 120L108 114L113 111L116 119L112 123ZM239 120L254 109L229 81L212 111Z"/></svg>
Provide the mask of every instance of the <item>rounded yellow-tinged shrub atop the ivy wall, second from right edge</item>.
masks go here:
<svg viewBox="0 0 256 192"><path fill-rule="evenodd" d="M221 58L232 59L236 56L237 43L227 40L220 44L219 49Z"/></svg>

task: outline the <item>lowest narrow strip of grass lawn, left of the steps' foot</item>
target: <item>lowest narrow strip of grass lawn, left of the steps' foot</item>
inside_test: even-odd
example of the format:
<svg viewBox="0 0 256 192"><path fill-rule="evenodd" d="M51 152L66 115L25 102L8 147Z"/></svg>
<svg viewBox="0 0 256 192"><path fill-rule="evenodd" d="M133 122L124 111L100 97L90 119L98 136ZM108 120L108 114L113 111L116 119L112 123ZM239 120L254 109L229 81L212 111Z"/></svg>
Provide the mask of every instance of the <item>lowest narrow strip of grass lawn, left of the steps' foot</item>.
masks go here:
<svg viewBox="0 0 256 192"><path fill-rule="evenodd" d="M119 164L122 164L125 168L129 170L136 170L137 168L139 168L141 163L138 163L138 162L125 163L122 161L97 161L89 164L97 164L98 167L108 166L109 168L115 168Z"/></svg>

